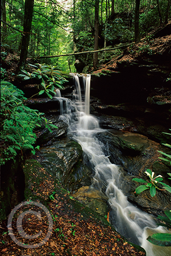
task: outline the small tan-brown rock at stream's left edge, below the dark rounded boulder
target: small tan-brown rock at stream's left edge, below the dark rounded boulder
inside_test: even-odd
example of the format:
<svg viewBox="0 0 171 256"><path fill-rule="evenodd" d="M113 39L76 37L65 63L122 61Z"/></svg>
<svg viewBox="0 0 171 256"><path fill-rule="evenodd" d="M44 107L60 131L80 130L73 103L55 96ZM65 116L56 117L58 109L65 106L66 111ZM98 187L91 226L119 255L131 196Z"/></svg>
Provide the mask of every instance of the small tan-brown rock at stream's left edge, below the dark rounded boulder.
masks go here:
<svg viewBox="0 0 171 256"><path fill-rule="evenodd" d="M108 198L98 189L88 186L82 187L76 193L73 193L72 196L102 216L107 215L106 203Z"/></svg>

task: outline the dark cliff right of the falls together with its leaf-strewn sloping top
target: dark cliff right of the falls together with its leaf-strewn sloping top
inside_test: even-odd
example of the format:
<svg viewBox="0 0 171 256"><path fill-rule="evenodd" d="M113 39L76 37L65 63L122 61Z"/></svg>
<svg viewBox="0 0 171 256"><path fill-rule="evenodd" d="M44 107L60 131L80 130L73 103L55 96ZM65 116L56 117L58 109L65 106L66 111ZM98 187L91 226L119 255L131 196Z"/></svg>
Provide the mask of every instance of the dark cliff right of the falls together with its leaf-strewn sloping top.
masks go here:
<svg viewBox="0 0 171 256"><path fill-rule="evenodd" d="M171 23L124 50L91 75L91 95L104 104L146 104L171 91Z"/></svg>

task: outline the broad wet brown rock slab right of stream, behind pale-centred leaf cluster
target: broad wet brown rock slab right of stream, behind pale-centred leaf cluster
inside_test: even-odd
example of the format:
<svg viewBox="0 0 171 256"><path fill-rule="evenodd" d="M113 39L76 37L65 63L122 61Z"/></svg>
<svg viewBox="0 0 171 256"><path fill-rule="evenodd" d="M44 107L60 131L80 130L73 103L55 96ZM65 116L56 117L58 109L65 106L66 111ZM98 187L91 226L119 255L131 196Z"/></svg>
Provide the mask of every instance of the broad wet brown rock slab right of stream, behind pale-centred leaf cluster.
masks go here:
<svg viewBox="0 0 171 256"><path fill-rule="evenodd" d="M132 181L134 177L148 180L144 172L151 169L156 175L164 177L164 183L169 184L167 172L170 168L159 162L159 152L167 151L159 143L149 140L147 137L135 133L118 133L115 130L97 134L98 139L104 144L104 151L109 155L111 163L120 166L122 175L121 189L128 200L139 205L148 213L164 214L169 209L171 197L169 192L157 191L155 197L151 197L149 191L135 195L135 189L140 183Z"/></svg>

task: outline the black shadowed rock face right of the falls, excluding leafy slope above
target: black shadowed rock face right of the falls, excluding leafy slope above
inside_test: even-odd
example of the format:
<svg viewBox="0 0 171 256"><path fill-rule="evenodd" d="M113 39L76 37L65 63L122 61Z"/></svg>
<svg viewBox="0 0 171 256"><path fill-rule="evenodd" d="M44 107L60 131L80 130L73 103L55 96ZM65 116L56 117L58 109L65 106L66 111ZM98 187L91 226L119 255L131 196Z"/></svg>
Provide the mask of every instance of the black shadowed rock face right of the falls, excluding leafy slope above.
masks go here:
<svg viewBox="0 0 171 256"><path fill-rule="evenodd" d="M111 73L91 75L91 95L105 104L146 104L151 95L167 93L171 82L171 51L168 55L130 61L118 61ZM160 93L159 93L160 90Z"/></svg>

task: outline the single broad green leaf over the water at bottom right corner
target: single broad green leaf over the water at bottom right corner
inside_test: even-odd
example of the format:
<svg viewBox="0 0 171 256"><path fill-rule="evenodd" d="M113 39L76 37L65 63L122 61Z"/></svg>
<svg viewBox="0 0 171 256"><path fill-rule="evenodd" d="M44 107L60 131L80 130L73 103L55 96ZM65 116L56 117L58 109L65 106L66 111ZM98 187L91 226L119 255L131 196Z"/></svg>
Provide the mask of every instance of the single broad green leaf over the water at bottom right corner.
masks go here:
<svg viewBox="0 0 171 256"><path fill-rule="evenodd" d="M147 240L158 246L171 246L171 234L157 233L149 236Z"/></svg>

